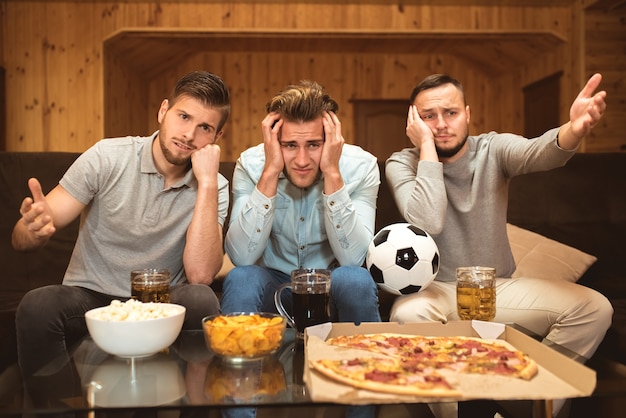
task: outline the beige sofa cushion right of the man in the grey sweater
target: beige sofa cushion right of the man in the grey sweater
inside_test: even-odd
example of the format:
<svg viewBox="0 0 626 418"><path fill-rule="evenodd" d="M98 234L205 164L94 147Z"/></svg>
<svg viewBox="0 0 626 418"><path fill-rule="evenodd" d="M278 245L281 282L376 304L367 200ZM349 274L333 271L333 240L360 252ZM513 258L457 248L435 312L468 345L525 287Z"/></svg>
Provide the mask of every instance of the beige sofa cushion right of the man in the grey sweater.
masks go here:
<svg viewBox="0 0 626 418"><path fill-rule="evenodd" d="M576 282L597 258L543 235L507 224L517 277Z"/></svg>

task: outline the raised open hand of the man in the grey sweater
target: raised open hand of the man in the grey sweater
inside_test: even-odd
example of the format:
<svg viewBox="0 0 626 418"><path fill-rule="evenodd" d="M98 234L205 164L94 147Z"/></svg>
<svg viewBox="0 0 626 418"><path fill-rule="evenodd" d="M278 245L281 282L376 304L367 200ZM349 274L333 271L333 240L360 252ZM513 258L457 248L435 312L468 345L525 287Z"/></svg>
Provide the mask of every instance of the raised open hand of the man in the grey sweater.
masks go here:
<svg viewBox="0 0 626 418"><path fill-rule="evenodd" d="M591 132L591 129L597 125L604 115L606 91L593 94L600 85L600 81L602 81L602 76L594 74L587 81L587 84L580 91L570 108L570 129L578 138L582 138Z"/></svg>

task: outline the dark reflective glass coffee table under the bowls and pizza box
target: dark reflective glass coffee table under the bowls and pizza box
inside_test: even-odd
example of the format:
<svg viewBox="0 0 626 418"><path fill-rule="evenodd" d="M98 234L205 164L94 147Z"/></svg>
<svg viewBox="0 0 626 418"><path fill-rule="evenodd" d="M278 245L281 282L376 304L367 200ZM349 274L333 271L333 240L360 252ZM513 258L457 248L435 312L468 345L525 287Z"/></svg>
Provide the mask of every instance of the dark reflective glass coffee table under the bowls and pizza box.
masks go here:
<svg viewBox="0 0 626 418"><path fill-rule="evenodd" d="M562 347L553 348L573 356ZM233 364L222 360L207 350L198 330L183 331L168 350L138 359L108 355L86 337L69 364L50 364L47 369L54 373L29 379L25 389L21 384L2 389L8 394L0 397L0 415L215 410L219 416L225 407L326 405L313 402L307 393L302 381L304 348L292 329L287 330L280 350L262 361ZM594 396L626 397L626 378L621 382ZM460 416L467 409L463 404L459 403ZM549 400L533 401L531 408L533 417L551 416Z"/></svg>

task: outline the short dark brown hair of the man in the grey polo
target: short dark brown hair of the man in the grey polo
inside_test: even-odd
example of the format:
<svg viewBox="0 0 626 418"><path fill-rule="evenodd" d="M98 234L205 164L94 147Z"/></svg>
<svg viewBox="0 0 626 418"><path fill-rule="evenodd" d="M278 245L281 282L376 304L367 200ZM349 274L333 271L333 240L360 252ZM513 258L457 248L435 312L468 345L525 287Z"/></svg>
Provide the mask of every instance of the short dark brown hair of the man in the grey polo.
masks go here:
<svg viewBox="0 0 626 418"><path fill-rule="evenodd" d="M230 93L219 76L207 71L192 71L184 75L172 90L170 106L183 96L196 99L203 105L220 111L222 119L217 131L222 129L230 114Z"/></svg>

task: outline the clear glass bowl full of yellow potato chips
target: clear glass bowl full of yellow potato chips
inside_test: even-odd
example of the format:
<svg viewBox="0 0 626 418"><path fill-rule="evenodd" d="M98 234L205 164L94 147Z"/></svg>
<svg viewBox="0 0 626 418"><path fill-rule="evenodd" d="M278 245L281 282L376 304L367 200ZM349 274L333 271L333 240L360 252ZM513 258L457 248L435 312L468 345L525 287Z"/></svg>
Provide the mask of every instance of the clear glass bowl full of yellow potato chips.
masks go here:
<svg viewBox="0 0 626 418"><path fill-rule="evenodd" d="M285 327L285 318L264 312L234 312L202 319L207 347L231 362L258 360L276 352Z"/></svg>

